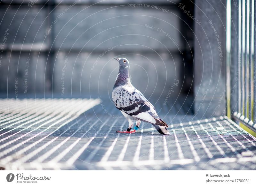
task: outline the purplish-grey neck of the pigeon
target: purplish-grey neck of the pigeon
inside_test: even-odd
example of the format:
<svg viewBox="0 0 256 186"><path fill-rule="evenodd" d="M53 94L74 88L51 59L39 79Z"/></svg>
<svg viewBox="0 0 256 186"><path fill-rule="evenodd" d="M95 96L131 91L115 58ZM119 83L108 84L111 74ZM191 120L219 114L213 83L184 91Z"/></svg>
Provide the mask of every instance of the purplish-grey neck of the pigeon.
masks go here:
<svg viewBox="0 0 256 186"><path fill-rule="evenodd" d="M123 86L126 84L131 84L129 78L129 66L122 65L119 67L118 75L116 77L116 82L113 88L116 88L117 86Z"/></svg>

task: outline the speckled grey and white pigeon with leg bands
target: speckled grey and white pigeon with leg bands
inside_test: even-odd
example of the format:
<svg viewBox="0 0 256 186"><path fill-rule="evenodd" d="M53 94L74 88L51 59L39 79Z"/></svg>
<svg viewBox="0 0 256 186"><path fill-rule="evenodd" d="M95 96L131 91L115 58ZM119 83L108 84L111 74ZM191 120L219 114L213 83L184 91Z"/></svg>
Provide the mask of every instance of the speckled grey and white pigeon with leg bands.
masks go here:
<svg viewBox="0 0 256 186"><path fill-rule="evenodd" d="M125 58L114 58L119 62L119 72L113 87L112 100L117 109L128 120L129 126L126 131L119 133L135 133L140 127L140 122L152 123L162 135L170 135L168 125L159 118L154 106L145 96L132 86L129 78L129 61ZM133 124L136 123L134 130Z"/></svg>

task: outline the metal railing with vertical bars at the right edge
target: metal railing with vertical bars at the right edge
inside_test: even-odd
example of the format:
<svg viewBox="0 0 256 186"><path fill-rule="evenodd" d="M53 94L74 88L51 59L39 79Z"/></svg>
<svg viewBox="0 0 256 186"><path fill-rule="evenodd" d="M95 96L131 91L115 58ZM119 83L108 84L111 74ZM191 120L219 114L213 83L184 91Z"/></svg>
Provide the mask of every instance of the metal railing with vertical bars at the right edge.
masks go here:
<svg viewBox="0 0 256 186"><path fill-rule="evenodd" d="M230 47L231 118L243 123L254 132L256 132L256 125L254 125L256 123L256 55L253 55L252 64L252 48L255 54L256 47L252 47L252 37L255 46L255 4L256 0L254 2L252 0L231 1ZM253 12L254 15L252 15Z"/></svg>

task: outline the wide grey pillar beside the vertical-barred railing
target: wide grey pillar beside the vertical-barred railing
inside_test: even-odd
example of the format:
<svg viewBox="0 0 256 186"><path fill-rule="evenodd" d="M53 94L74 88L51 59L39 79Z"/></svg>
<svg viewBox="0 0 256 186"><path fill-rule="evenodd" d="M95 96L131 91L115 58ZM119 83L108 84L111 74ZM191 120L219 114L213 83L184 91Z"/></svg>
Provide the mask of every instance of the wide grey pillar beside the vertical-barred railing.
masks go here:
<svg viewBox="0 0 256 186"><path fill-rule="evenodd" d="M197 118L226 115L226 1L195 1L194 109Z"/></svg>

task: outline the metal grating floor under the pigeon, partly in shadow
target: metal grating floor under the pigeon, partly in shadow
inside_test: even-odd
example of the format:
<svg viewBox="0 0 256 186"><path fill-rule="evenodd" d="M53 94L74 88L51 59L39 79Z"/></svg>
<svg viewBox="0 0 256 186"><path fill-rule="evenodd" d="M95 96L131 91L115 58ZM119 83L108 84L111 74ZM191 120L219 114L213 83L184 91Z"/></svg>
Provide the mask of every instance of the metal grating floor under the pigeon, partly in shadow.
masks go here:
<svg viewBox="0 0 256 186"><path fill-rule="evenodd" d="M160 135L144 122L135 134L116 133L128 123L110 103L99 99L0 99L0 167L256 169L256 138L226 116L194 117L191 122L191 100L170 103L171 108L156 105L160 117L168 121L170 136Z"/></svg>

